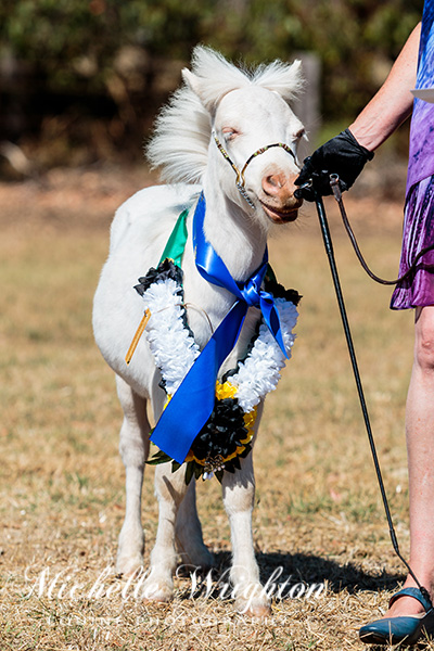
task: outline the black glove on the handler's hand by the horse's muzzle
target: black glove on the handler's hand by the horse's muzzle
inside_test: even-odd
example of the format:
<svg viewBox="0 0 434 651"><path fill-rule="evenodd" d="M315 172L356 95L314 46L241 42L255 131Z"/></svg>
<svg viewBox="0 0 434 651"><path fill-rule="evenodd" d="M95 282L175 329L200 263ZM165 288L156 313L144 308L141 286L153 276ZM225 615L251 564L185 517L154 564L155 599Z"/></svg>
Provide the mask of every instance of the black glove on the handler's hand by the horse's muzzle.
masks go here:
<svg viewBox="0 0 434 651"><path fill-rule="evenodd" d="M361 146L345 129L323 145L318 148L311 156L305 158L304 166L295 180L296 186L312 181L309 188L299 188L295 196L315 201L315 194L322 196L332 194L330 175L336 174L340 178L341 190L348 190L363 169L368 161L372 161L373 152Z"/></svg>

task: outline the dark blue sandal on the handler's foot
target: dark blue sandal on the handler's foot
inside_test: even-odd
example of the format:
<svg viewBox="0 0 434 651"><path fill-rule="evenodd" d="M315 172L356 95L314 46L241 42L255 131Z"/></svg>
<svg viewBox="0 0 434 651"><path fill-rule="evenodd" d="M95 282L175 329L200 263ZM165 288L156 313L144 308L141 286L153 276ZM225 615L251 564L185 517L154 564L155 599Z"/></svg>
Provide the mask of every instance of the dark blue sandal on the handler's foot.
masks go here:
<svg viewBox="0 0 434 651"><path fill-rule="evenodd" d="M422 595L419 588L404 588L394 595L388 608L400 597L413 597L425 609L421 617L401 616L375 620L366 624L359 630L359 637L367 644L414 644L423 636L434 633L434 609L432 603Z"/></svg>

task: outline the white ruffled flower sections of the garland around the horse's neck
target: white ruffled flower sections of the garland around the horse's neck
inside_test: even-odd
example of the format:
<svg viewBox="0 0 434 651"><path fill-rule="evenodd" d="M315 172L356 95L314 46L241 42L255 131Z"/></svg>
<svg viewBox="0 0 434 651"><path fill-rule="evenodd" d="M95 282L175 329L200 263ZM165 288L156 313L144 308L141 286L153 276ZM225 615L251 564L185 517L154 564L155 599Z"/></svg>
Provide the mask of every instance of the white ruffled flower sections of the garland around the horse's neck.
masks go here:
<svg viewBox="0 0 434 651"><path fill-rule="evenodd" d="M187 375L200 348L191 332L184 327L186 308L179 295L179 285L173 279L157 280L143 293L143 301L151 318L145 329L155 363L163 375L166 392L174 395ZM283 343L288 358L295 334L297 309L284 298L275 298L279 311ZM265 323L246 359L239 365L235 374L228 382L237 388L237 399L245 413L270 392L280 380L280 371L285 366L285 357Z"/></svg>

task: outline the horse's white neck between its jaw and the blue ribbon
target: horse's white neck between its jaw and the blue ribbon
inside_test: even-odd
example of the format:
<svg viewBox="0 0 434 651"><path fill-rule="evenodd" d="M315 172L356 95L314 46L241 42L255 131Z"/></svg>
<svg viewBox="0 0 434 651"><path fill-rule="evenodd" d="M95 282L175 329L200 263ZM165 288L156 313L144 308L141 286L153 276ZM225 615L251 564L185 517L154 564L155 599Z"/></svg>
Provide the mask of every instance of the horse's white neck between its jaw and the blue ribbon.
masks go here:
<svg viewBox="0 0 434 651"><path fill-rule="evenodd" d="M267 243L266 232L224 194L205 188L204 231L207 241L238 281L246 280L259 267Z"/></svg>

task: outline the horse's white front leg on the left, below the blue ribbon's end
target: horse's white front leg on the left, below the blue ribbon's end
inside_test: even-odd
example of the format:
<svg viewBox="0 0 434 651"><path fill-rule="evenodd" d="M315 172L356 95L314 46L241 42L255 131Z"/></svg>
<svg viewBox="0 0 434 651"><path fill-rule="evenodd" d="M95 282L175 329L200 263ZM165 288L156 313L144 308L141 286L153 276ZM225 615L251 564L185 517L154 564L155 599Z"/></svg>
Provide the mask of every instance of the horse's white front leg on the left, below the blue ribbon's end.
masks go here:
<svg viewBox="0 0 434 651"><path fill-rule="evenodd" d="M158 500L158 528L151 552L151 567L143 585L143 596L150 601L166 602L174 596L174 573L177 565L175 525L179 506L188 486L186 467L171 472L171 463L155 467L155 495Z"/></svg>

